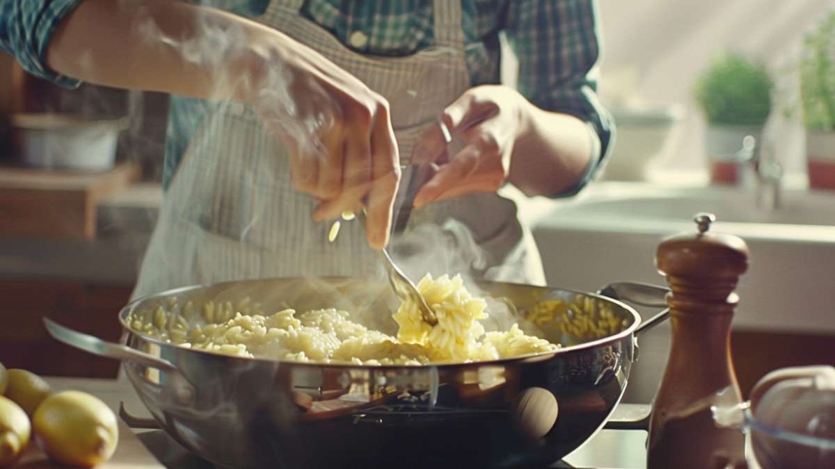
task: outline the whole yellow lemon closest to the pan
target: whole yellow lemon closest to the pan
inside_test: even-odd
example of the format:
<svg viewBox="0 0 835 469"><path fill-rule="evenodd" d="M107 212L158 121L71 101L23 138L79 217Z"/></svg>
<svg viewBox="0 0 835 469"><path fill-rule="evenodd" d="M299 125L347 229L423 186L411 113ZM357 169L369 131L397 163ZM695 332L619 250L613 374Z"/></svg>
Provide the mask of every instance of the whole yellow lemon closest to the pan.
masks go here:
<svg viewBox="0 0 835 469"><path fill-rule="evenodd" d="M119 441L113 411L81 391L49 396L35 412L32 426L47 456L70 466L93 467L107 461Z"/></svg>

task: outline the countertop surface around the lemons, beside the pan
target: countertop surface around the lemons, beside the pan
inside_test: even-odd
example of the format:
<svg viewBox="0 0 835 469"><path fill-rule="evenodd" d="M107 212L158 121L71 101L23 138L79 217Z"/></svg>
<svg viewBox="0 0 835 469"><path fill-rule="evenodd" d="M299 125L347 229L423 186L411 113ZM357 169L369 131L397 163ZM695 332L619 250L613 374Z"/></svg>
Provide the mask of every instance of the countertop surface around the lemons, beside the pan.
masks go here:
<svg viewBox="0 0 835 469"><path fill-rule="evenodd" d="M131 413L139 415L147 414L144 411L139 397L136 396L130 384L127 381L114 380L94 380L84 378L45 378L49 385L53 387L54 391L77 390L85 391L99 397L106 403L116 415L119 415L119 403L124 401L124 405ZM37 444L30 443L28 451L23 455L18 464L13 468L18 469L66 469L67 466L61 466L54 462L48 461L47 457L40 451ZM116 452L110 461L105 462L99 466L99 469L124 469L130 467L131 469L163 469L164 466L159 462L154 455L139 441L139 438L121 419L119 419L119 446L116 446Z"/></svg>

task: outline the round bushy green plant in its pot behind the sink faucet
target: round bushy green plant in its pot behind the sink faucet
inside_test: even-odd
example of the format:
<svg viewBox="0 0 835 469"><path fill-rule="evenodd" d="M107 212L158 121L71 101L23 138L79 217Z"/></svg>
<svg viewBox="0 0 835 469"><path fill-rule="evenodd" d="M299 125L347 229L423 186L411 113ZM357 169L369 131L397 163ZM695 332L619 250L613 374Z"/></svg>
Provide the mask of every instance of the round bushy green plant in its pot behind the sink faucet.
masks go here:
<svg viewBox="0 0 835 469"><path fill-rule="evenodd" d="M734 157L747 135L760 141L772 109L772 88L767 68L737 53L716 58L696 81L696 100L707 119L705 148L714 182L737 182Z"/></svg>

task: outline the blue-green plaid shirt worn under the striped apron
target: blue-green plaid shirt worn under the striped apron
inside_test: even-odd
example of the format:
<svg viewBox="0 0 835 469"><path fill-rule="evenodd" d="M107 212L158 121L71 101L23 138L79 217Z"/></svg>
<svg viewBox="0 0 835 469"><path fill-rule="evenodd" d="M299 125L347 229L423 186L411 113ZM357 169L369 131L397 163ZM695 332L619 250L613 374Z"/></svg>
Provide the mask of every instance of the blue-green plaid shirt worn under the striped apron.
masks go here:
<svg viewBox="0 0 835 469"><path fill-rule="evenodd" d="M0 0L0 47L13 53L30 73L67 87L78 84L51 72L43 56L56 24L79 2ZM269 0L197 3L256 17ZM432 5L432 0L307 0L302 13L357 52L407 55L433 42ZM462 7L473 85L498 83L498 33L504 32L519 60L519 92L540 108L569 113L590 124L600 136L600 154L605 154L614 123L595 94L600 59L596 0L462 0ZM348 40L356 31L367 36L362 48ZM195 100L172 100L166 183L200 123L202 108Z"/></svg>

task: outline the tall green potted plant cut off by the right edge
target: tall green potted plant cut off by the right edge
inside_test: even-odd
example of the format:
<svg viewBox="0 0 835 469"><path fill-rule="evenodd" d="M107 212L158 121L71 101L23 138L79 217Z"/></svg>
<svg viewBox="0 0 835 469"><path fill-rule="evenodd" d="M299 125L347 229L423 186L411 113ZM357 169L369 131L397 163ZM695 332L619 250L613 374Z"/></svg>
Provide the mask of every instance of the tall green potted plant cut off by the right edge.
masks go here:
<svg viewBox="0 0 835 469"><path fill-rule="evenodd" d="M835 189L835 12L803 39L800 92L809 185Z"/></svg>

